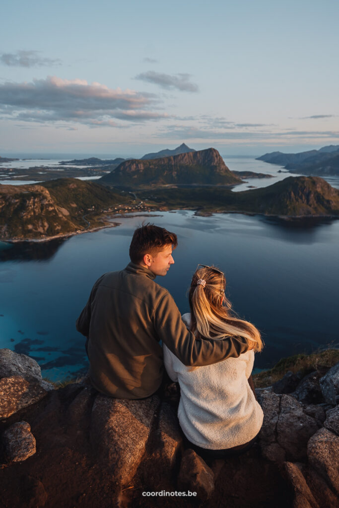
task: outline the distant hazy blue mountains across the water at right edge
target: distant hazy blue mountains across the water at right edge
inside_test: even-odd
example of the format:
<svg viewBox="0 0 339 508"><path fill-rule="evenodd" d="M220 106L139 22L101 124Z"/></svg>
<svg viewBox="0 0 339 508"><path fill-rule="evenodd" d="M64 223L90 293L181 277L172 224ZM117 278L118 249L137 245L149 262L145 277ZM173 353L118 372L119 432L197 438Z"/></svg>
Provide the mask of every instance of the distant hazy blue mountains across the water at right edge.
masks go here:
<svg viewBox="0 0 339 508"><path fill-rule="evenodd" d="M339 175L339 145L323 146L319 150L299 153L271 152L258 157L258 161L279 164L291 173L304 175Z"/></svg>

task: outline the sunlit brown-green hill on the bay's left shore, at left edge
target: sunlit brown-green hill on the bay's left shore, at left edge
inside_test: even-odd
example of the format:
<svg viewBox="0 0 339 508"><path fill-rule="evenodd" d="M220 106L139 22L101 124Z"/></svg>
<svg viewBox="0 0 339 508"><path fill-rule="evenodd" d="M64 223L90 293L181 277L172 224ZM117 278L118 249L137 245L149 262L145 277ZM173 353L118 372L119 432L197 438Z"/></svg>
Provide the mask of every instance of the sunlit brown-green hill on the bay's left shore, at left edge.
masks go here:
<svg viewBox="0 0 339 508"><path fill-rule="evenodd" d="M91 228L99 227L103 223L95 214L130 200L103 185L75 178L39 185L0 185L0 239L73 234L88 229L87 219Z"/></svg>

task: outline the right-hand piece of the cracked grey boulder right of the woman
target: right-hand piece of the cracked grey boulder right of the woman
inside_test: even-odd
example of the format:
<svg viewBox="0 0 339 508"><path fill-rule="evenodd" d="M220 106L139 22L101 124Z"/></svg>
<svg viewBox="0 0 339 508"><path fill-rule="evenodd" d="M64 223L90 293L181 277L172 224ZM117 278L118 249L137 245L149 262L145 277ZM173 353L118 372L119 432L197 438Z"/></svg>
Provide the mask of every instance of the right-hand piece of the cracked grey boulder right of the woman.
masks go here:
<svg viewBox="0 0 339 508"><path fill-rule="evenodd" d="M307 441L318 428L315 419L304 414L299 402L290 395L281 396L276 432L277 441L285 450L288 460L306 458Z"/></svg>

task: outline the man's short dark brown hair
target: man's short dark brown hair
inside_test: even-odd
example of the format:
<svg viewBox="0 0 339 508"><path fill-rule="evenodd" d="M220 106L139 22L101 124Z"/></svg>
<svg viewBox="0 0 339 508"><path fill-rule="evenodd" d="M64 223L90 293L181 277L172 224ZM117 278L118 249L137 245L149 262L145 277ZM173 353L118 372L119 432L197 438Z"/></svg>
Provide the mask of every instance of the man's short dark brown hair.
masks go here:
<svg viewBox="0 0 339 508"><path fill-rule="evenodd" d="M175 249L177 244L178 240L175 233L147 223L137 228L133 234L130 245L130 258L132 263L139 264L145 254L155 256L166 245L172 245Z"/></svg>

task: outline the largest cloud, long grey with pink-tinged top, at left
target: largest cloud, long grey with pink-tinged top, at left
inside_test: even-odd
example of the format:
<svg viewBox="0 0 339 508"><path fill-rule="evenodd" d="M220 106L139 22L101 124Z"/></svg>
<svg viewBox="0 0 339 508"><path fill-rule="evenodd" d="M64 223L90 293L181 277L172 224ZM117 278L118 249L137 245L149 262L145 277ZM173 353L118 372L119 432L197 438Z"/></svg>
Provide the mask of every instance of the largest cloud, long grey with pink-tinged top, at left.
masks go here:
<svg viewBox="0 0 339 508"><path fill-rule="evenodd" d="M166 113L154 111L158 102L154 94L56 76L0 84L0 113L16 121L119 126L115 119L144 122L167 118Z"/></svg>

